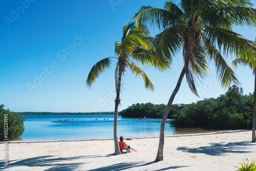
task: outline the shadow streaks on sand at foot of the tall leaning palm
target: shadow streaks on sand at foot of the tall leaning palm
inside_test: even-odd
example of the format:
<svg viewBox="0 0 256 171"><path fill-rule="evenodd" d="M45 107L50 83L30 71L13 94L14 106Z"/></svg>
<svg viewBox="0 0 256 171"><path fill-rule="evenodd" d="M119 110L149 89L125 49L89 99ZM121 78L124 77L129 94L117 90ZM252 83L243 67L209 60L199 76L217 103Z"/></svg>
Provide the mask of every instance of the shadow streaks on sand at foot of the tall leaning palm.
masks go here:
<svg viewBox="0 0 256 171"><path fill-rule="evenodd" d="M123 162L123 163L117 163L117 164L113 164L110 166L105 166L105 167L101 167L101 168L95 168L95 169L91 169L88 171L96 171L96 170L124 170L124 169L131 169L131 168L136 168L136 167L140 167L140 166L147 166L147 165L151 165L157 163L156 161L152 161L152 162L148 162L148 163L143 163L143 162ZM175 168L180 168L180 167L187 167L187 166L170 166L167 168L162 168L160 170L168 170L168 169L175 169Z"/></svg>

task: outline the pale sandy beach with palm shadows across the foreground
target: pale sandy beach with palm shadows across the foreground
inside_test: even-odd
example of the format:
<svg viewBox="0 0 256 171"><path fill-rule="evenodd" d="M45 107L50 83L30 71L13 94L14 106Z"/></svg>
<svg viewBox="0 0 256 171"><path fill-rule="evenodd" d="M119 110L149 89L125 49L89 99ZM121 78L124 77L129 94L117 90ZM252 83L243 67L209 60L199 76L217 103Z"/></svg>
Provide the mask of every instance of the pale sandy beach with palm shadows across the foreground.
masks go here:
<svg viewBox="0 0 256 171"><path fill-rule="evenodd" d="M113 140L8 143L9 167L0 170L236 170L256 158L251 131L165 138L164 161L154 162L158 138L125 140L137 152L115 156Z"/></svg>

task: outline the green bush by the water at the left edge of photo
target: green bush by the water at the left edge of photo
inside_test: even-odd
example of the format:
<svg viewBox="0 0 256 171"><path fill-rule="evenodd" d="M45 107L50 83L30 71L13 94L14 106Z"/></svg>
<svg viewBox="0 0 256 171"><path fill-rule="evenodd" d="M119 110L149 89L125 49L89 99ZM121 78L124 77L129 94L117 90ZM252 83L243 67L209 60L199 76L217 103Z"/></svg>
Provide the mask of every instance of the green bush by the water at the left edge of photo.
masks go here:
<svg viewBox="0 0 256 171"><path fill-rule="evenodd" d="M0 141L22 136L25 127L23 115L10 112L0 105Z"/></svg>

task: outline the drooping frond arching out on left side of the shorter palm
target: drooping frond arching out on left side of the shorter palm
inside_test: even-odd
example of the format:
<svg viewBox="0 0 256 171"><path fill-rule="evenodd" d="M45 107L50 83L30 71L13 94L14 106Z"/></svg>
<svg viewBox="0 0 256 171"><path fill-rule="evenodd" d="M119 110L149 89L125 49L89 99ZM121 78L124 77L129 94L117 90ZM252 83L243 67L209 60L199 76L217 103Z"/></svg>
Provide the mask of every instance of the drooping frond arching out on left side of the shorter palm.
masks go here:
<svg viewBox="0 0 256 171"><path fill-rule="evenodd" d="M92 89L92 83L98 78L98 76L103 73L106 69L110 68L111 65L111 57L102 59L98 61L91 69L91 71L88 74L86 85Z"/></svg>

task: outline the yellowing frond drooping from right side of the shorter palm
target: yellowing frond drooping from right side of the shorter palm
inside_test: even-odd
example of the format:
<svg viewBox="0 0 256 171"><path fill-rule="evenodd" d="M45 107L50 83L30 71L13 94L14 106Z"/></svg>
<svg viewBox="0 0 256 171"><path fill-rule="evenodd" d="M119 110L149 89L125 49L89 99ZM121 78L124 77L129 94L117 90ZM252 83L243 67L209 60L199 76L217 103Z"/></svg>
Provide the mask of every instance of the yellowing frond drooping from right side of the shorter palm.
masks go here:
<svg viewBox="0 0 256 171"><path fill-rule="evenodd" d="M154 86L153 86L151 80L147 77L145 72L138 65L136 65L136 63L134 63L132 61L127 61L127 66L131 69L131 71L133 73L136 74L136 77L137 76L143 77L146 89L154 91Z"/></svg>

